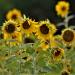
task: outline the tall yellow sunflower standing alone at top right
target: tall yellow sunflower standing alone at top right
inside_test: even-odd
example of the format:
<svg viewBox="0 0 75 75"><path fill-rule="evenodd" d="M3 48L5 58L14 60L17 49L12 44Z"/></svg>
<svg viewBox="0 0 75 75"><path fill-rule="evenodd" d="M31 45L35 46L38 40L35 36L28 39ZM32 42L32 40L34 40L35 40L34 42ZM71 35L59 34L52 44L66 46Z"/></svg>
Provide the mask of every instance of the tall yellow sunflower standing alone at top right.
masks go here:
<svg viewBox="0 0 75 75"><path fill-rule="evenodd" d="M67 14L69 13L69 6L70 5L68 2L59 1L55 7L57 14L61 17L67 16Z"/></svg>

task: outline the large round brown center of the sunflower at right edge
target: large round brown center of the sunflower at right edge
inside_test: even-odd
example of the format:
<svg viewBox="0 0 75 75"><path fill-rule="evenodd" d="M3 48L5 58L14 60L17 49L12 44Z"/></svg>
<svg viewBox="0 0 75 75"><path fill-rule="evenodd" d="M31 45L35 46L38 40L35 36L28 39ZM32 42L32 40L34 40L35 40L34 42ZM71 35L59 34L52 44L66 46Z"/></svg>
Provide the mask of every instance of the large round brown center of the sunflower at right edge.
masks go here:
<svg viewBox="0 0 75 75"><path fill-rule="evenodd" d="M64 34L63 34L63 39L66 42L72 41L74 39L74 33L70 30L65 31Z"/></svg>

